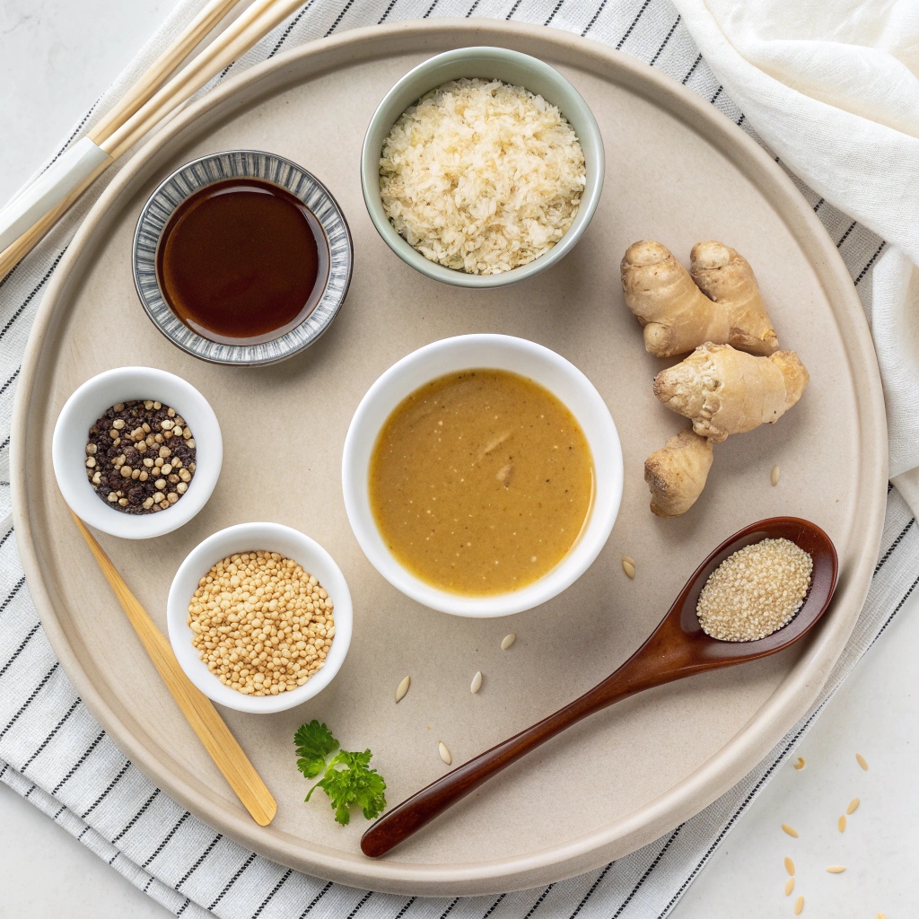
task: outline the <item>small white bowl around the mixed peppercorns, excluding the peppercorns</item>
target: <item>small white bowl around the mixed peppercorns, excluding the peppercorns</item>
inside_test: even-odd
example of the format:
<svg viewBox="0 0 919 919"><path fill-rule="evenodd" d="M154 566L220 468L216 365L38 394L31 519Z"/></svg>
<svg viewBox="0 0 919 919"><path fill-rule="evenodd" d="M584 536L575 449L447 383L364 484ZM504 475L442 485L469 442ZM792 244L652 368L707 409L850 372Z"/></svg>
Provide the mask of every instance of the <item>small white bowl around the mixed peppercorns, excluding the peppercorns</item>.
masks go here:
<svg viewBox="0 0 919 919"><path fill-rule="evenodd" d="M188 491L155 514L125 514L109 507L86 476L89 428L112 405L155 399L182 415L196 443L196 469ZM184 526L208 503L223 462L221 427L210 404L191 383L152 367L119 367L98 374L64 404L51 440L54 475L64 501L90 527L122 539L151 539Z"/></svg>

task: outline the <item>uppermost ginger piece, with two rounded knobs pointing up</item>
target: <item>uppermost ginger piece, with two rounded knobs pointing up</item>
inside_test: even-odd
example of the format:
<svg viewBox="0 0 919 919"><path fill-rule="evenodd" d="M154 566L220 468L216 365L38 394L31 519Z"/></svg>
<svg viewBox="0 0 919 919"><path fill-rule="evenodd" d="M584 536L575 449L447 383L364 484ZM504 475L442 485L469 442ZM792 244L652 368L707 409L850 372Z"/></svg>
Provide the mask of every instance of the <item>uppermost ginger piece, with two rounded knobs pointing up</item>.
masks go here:
<svg viewBox="0 0 919 919"><path fill-rule="evenodd" d="M619 266L626 305L644 326L656 357L686 354L705 342L769 355L778 338L753 268L727 245L693 246L692 276L662 244L630 245ZM698 286L697 286L698 285Z"/></svg>

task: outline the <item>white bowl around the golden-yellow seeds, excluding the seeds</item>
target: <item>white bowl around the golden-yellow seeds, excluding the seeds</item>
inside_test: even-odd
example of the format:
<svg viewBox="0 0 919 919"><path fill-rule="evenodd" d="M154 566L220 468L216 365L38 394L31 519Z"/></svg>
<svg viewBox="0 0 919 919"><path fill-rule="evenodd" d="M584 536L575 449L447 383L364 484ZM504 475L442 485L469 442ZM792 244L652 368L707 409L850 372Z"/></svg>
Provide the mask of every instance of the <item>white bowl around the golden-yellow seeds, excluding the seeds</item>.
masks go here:
<svg viewBox="0 0 919 919"><path fill-rule="evenodd" d="M301 564L306 571L315 575L335 604L335 638L326 655L323 669L312 675L303 686L297 686L290 692L278 693L277 696L244 696L230 686L223 686L201 661L191 643L194 632L187 624L188 604L198 589L199 580L210 571L211 566L235 552L259 549L280 552ZM332 556L314 539L277 523L241 523L209 536L191 550L185 562L182 562L173 578L169 599L166 601L169 641L188 679L205 696L228 709L254 714L293 709L322 692L345 662L353 622L351 593L347 589L345 575Z"/></svg>

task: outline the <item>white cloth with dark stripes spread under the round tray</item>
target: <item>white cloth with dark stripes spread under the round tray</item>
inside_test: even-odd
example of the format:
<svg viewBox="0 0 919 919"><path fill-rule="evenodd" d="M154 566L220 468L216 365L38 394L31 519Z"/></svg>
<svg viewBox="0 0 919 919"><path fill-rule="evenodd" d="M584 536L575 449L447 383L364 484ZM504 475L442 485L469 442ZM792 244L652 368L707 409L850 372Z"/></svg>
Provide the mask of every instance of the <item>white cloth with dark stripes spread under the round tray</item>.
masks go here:
<svg viewBox="0 0 919 919"><path fill-rule="evenodd" d="M180 0L164 28L86 113L62 150L142 73L203 2ZM679 2L688 6L687 0ZM517 19L604 41L671 75L709 99L744 130L751 130L750 119L703 60L686 29L686 19L671 0L311 0L236 62L230 75L278 51L346 28L427 16ZM736 89L743 90L743 81ZM110 176L111 171L27 259L0 279L0 521L6 517L6 523L0 523L0 780L176 915L215 914L222 919L304 919L307 915L313 919L573 919L575 915L578 919L663 919L769 778L786 763L834 689L919 585L919 527L907 505L897 494L889 495L882 555L868 601L814 708L742 782L658 842L579 878L492 897L371 894L276 865L215 833L169 800L108 739L77 697L44 637L28 597L16 534L9 524L8 434L28 329L76 226ZM904 286L909 291L913 284L914 289L912 276L907 278L902 270L888 271L891 263L879 261L884 243L875 233L827 203L829 198L824 201L823 191L815 192L801 183L799 187L838 243L868 310L872 277L876 285L886 285L891 296ZM869 216L866 211L866 221ZM876 309L878 337L881 325L895 330L896 323L879 320Z"/></svg>

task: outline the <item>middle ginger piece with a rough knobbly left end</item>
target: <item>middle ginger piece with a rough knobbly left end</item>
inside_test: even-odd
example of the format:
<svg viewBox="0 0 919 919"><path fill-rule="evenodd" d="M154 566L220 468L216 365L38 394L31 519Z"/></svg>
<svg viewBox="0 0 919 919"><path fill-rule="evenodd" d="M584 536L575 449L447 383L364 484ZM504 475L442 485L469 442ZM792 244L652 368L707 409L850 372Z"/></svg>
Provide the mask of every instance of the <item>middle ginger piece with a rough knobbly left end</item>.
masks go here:
<svg viewBox="0 0 919 919"><path fill-rule="evenodd" d="M707 342L662 370L654 395L689 418L698 435L720 443L729 434L776 422L798 402L810 379L794 351L753 357Z"/></svg>

